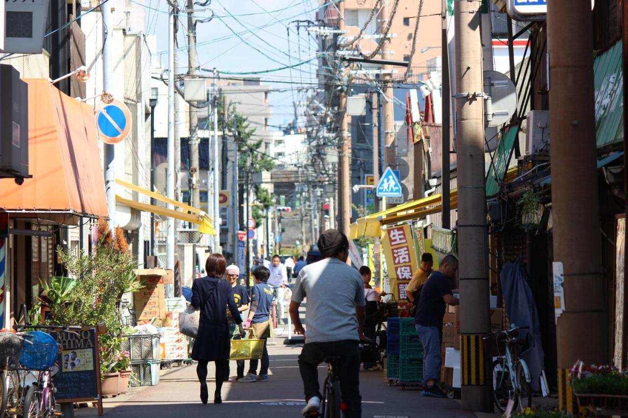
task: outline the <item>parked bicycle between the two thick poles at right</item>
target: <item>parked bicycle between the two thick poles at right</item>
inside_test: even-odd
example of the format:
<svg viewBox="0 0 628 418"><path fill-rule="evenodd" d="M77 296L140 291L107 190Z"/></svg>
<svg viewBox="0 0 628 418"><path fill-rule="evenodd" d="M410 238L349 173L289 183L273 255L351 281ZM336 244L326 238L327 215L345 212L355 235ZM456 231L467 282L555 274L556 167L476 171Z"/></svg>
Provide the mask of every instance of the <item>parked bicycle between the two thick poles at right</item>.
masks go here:
<svg viewBox="0 0 628 418"><path fill-rule="evenodd" d="M512 324L510 330L498 331L484 336L484 340L495 339L497 354L491 367L493 402L501 412L506 412L509 403L512 410L523 410L532 407L532 389L528 364L518 358L516 346L521 344L517 334L520 330L528 330L529 326ZM501 343L504 343L504 354L501 353Z"/></svg>

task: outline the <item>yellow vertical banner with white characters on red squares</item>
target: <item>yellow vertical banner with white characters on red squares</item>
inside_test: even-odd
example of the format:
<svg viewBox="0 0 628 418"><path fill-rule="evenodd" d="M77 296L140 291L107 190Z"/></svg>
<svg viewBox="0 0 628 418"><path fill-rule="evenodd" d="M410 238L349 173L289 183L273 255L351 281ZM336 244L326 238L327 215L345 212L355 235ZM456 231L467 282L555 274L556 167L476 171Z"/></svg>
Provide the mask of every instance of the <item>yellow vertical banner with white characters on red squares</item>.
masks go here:
<svg viewBox="0 0 628 418"><path fill-rule="evenodd" d="M412 274L418 269L410 225L387 228L384 233L383 249L391 293L403 308L406 303L406 287L412 279ZM401 313L399 315L401 316Z"/></svg>

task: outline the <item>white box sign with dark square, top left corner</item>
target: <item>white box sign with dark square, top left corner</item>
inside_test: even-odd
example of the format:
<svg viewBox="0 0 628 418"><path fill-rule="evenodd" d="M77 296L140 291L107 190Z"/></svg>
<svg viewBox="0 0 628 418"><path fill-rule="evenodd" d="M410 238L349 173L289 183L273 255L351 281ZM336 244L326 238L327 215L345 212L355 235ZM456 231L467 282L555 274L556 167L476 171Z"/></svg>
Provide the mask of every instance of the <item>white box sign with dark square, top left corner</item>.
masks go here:
<svg viewBox="0 0 628 418"><path fill-rule="evenodd" d="M40 54L50 0L3 1L3 53ZM0 19L1 21L2 19Z"/></svg>

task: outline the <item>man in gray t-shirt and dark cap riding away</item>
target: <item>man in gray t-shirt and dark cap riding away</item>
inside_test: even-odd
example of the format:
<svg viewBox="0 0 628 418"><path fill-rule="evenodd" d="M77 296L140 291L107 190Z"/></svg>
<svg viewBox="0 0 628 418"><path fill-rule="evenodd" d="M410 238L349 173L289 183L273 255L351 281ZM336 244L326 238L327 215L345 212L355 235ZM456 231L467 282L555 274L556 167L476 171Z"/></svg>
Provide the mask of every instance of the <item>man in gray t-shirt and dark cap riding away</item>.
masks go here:
<svg viewBox="0 0 628 418"><path fill-rule="evenodd" d="M299 356L299 368L307 405L303 414L316 414L322 395L318 386L317 367L327 356L340 356L337 375L342 402L347 405L346 418L362 416L359 390L360 340L364 340L364 289L362 277L347 265L349 240L335 229L318 238L318 249L324 259L301 269L296 278L290 302L290 318L295 333L305 335ZM303 329L299 306L307 298ZM355 314L348 314L355 310Z"/></svg>

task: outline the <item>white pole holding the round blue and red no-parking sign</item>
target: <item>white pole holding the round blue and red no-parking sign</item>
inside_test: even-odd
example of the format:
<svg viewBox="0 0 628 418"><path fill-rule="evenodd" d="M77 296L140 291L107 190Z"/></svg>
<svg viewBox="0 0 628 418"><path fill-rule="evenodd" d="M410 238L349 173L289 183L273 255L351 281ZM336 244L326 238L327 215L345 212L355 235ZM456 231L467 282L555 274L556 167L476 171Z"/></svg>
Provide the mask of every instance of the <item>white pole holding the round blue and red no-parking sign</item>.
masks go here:
<svg viewBox="0 0 628 418"><path fill-rule="evenodd" d="M102 3L102 1L101 1ZM113 75L111 7L106 5L102 10L102 90L111 94ZM107 31L111 30L109 36ZM109 228L116 228L116 148L114 144L104 145L105 186L107 190L107 208L109 209Z"/></svg>

